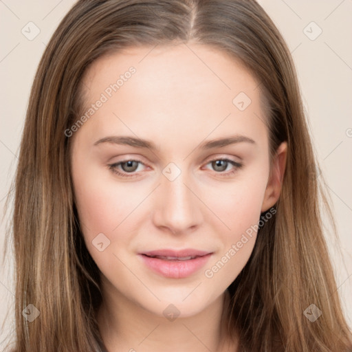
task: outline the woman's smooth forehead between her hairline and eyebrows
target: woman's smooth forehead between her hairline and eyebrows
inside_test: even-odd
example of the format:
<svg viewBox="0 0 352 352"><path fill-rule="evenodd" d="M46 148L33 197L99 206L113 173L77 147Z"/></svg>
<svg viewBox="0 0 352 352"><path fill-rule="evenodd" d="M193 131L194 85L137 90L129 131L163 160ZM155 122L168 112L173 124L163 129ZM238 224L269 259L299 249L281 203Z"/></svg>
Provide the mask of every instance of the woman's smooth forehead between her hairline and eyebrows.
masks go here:
<svg viewBox="0 0 352 352"><path fill-rule="evenodd" d="M265 129L254 76L205 45L130 47L98 58L83 83L86 110L104 100L87 122L94 133L117 124L135 134L168 137L184 134L185 127L203 137L235 127L254 134Z"/></svg>

